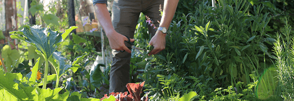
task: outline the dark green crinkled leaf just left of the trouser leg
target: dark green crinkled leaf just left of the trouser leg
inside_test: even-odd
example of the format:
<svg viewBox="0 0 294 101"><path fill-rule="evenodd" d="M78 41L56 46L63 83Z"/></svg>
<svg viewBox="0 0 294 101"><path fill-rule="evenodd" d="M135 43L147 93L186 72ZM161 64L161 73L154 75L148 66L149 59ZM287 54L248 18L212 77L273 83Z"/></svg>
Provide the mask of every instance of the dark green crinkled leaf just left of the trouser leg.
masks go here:
<svg viewBox="0 0 294 101"><path fill-rule="evenodd" d="M90 82L95 87L100 87L102 80L105 79L105 77L100 69L100 66L105 66L105 65L98 64L90 71Z"/></svg>

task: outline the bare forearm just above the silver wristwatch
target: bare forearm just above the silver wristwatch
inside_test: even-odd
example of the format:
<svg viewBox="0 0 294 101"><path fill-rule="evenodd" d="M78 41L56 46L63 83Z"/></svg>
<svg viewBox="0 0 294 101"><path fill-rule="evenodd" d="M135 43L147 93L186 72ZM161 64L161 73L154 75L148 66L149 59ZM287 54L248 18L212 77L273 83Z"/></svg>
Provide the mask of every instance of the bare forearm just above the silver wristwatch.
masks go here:
<svg viewBox="0 0 294 101"><path fill-rule="evenodd" d="M163 14L159 26L168 29L175 15L179 0L164 0Z"/></svg>

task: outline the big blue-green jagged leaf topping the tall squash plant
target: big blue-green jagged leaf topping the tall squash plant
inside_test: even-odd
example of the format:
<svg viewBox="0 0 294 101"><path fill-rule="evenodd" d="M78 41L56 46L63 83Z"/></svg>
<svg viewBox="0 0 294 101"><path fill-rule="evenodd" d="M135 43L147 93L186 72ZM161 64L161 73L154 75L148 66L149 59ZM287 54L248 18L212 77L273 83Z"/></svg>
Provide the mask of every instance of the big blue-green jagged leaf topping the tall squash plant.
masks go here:
<svg viewBox="0 0 294 101"><path fill-rule="evenodd" d="M67 34L73 29L70 28L70 30L66 30L63 34ZM10 32L10 34L12 34L11 36L16 36L13 38L24 40L35 46L39 50L36 52L41 53L45 59L48 59L64 40L61 32L52 31L50 28L42 28L39 25L33 27L24 25L21 31Z"/></svg>

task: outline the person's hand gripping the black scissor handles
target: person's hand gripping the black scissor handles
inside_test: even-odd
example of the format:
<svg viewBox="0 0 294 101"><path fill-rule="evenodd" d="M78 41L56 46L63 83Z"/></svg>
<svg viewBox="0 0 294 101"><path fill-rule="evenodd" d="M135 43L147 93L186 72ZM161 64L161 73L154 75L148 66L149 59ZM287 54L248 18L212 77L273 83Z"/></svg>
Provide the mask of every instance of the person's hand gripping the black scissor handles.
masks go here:
<svg viewBox="0 0 294 101"><path fill-rule="evenodd" d="M128 41L128 38L126 36L123 36L117 32L113 32L113 33L108 33L106 34L108 41L109 41L109 45L111 47L111 49L115 49L115 50L126 50L128 53L132 53L132 51L130 49L128 49L128 47L126 47L124 41ZM135 39L131 39L130 41L133 42L135 41Z"/></svg>

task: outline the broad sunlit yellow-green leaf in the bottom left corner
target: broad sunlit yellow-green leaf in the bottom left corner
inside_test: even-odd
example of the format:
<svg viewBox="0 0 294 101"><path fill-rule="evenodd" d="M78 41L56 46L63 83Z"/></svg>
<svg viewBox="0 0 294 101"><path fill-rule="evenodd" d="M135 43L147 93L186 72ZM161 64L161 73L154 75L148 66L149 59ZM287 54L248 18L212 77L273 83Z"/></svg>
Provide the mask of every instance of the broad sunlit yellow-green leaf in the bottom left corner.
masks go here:
<svg viewBox="0 0 294 101"><path fill-rule="evenodd" d="M38 86L24 86L20 82L22 78L21 73L6 73L4 76L3 70L0 70L0 100L7 101L48 101L58 94L62 88L41 89ZM17 99L17 100L16 100Z"/></svg>

